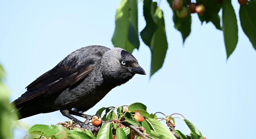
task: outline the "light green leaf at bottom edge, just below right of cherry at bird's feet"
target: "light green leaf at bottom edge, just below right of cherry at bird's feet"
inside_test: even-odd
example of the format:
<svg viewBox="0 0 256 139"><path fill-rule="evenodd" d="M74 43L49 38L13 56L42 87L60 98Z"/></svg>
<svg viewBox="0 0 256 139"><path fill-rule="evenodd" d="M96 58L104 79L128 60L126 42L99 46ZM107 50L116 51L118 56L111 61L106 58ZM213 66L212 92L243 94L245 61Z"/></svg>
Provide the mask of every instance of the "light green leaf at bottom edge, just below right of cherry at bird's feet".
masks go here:
<svg viewBox="0 0 256 139"><path fill-rule="evenodd" d="M103 124L97 134L97 139L113 139L111 128L112 126L110 122Z"/></svg>

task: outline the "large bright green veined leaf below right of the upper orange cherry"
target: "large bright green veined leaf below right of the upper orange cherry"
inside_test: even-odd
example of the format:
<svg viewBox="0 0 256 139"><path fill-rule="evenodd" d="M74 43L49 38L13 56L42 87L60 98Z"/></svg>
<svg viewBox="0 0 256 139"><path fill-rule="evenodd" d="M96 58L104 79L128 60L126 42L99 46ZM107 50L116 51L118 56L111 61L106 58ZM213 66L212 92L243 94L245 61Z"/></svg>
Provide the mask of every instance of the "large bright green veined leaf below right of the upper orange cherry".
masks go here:
<svg viewBox="0 0 256 139"><path fill-rule="evenodd" d="M156 133L167 137L168 139L176 139L176 137L158 120L156 119L146 119L146 122L150 128ZM151 131L152 133L152 131Z"/></svg>

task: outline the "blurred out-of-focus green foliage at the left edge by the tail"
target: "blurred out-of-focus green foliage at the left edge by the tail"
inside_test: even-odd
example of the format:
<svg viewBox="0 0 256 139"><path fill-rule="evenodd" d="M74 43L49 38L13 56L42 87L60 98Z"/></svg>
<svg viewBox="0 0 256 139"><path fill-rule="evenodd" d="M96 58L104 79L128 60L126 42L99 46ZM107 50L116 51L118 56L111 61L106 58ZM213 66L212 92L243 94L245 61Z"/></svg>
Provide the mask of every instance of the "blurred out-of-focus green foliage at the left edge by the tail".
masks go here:
<svg viewBox="0 0 256 139"><path fill-rule="evenodd" d="M0 138L11 138L11 124L10 122L16 119L16 116L11 113L11 106L9 105L9 91L4 85L5 71L0 64Z"/></svg>

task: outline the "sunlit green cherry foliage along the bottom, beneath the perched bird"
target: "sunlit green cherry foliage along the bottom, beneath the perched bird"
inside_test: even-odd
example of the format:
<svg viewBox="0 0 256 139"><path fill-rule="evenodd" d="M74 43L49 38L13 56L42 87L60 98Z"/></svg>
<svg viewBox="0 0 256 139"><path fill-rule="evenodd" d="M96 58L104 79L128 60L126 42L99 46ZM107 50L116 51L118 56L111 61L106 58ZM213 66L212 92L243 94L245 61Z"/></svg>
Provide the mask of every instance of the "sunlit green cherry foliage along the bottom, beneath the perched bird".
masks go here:
<svg viewBox="0 0 256 139"><path fill-rule="evenodd" d="M131 130L128 125L136 127L140 133L153 139L187 139L189 136L184 135L179 130L175 129L175 121L172 115L164 118L157 118L156 114L149 114L146 111L146 106L142 103L133 103L128 107L128 111L123 111L124 106L121 107L102 107L97 112L109 117L101 128L94 134L88 130L80 128L76 123L70 121L65 123L58 123L56 125L36 124L29 129L29 134L40 135L41 138L51 139L128 139L141 138L136 131ZM144 113L144 121L138 122L134 117L135 112ZM161 112L157 112L161 113ZM179 114L177 114L179 115ZM181 115L182 116L182 115ZM182 116L184 117L184 116ZM177 118L177 117L176 117ZM161 123L164 121L164 123ZM190 129L190 137L193 139L202 139L201 132L189 120L184 118L184 121ZM168 128L169 129L168 129ZM175 134L176 133L176 134ZM40 137L39 137L40 138Z"/></svg>

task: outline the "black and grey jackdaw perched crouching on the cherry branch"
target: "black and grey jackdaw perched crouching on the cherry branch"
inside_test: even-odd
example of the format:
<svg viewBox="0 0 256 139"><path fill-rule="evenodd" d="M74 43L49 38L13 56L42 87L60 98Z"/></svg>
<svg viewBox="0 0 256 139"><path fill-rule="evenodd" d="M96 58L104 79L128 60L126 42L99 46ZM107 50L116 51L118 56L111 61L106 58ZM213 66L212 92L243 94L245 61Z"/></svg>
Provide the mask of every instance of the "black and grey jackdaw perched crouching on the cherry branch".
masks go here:
<svg viewBox="0 0 256 139"><path fill-rule="evenodd" d="M74 116L83 114L116 86L128 82L135 74L146 75L137 59L122 48L91 45L80 48L32 83L11 104L19 119L60 110L63 116L82 128L90 128Z"/></svg>

